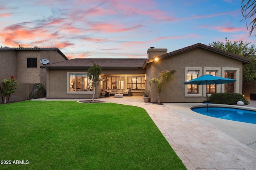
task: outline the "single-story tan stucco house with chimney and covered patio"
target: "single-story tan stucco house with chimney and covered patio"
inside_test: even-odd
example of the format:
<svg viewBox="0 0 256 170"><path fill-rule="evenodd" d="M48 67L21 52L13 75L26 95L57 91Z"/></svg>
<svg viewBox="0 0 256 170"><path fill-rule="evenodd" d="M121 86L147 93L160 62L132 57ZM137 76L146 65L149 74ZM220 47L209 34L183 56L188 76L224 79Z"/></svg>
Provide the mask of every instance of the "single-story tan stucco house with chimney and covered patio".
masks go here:
<svg viewBox="0 0 256 170"><path fill-rule="evenodd" d="M232 53L197 43L167 53L167 49L151 47L148 59L72 59L48 64L47 98L96 98L101 90L127 92L141 95L150 90L152 102L156 102L157 89L149 85L151 78L163 70L175 70L174 79L160 94L161 102L202 102L206 100L206 86L184 85L182 82L212 74L237 81L233 84L208 85L208 93L235 92L242 94L242 65L252 61ZM158 58L158 61L155 59ZM100 85L92 89L87 79L87 70L94 63L102 67ZM44 68L41 66L41 68Z"/></svg>

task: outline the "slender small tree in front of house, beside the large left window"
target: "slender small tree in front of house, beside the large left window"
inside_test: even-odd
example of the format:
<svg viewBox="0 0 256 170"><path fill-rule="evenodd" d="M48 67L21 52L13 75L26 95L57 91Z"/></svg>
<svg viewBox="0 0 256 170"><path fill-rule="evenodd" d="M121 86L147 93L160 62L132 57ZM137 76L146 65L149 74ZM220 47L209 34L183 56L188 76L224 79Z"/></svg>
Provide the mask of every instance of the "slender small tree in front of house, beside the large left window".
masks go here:
<svg viewBox="0 0 256 170"><path fill-rule="evenodd" d="M102 73L101 67L97 64L93 64L93 66L91 66L87 72L87 76L88 79L92 81L92 86L93 86L93 90L92 90L92 102L94 102L94 89L96 87L96 85L99 84L100 81L100 74Z"/></svg>

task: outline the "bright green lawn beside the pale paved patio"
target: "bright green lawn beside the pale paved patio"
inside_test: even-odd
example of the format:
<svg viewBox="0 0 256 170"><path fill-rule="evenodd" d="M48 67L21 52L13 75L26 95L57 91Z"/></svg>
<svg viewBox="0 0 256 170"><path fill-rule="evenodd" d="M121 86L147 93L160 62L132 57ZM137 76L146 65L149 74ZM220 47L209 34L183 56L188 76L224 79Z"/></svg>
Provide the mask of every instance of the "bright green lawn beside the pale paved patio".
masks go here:
<svg viewBox="0 0 256 170"><path fill-rule="evenodd" d="M8 170L186 169L145 109L76 101L0 105L0 160Z"/></svg>

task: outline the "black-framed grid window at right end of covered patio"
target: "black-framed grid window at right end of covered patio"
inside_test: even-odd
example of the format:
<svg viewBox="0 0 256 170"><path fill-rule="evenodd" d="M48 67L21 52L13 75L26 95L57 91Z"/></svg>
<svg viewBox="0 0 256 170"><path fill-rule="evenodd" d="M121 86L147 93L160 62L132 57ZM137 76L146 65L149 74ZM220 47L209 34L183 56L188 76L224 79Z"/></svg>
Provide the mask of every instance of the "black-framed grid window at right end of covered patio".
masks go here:
<svg viewBox="0 0 256 170"><path fill-rule="evenodd" d="M145 77L127 77L127 88L132 90L145 89Z"/></svg>

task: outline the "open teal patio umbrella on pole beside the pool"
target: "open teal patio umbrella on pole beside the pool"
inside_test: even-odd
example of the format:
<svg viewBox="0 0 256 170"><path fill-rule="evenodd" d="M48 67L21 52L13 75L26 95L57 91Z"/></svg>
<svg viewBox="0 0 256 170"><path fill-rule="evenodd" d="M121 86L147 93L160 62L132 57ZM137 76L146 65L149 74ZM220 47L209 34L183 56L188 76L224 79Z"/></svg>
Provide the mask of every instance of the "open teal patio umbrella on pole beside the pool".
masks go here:
<svg viewBox="0 0 256 170"><path fill-rule="evenodd" d="M204 85L206 84L206 87L208 84L225 84L225 83L234 83L236 80L231 78L224 78L224 77L218 77L218 76L212 76L210 74L202 75L198 78L194 78L192 80L182 82L184 84L198 84L198 85ZM208 112L208 94L206 93L206 110Z"/></svg>

